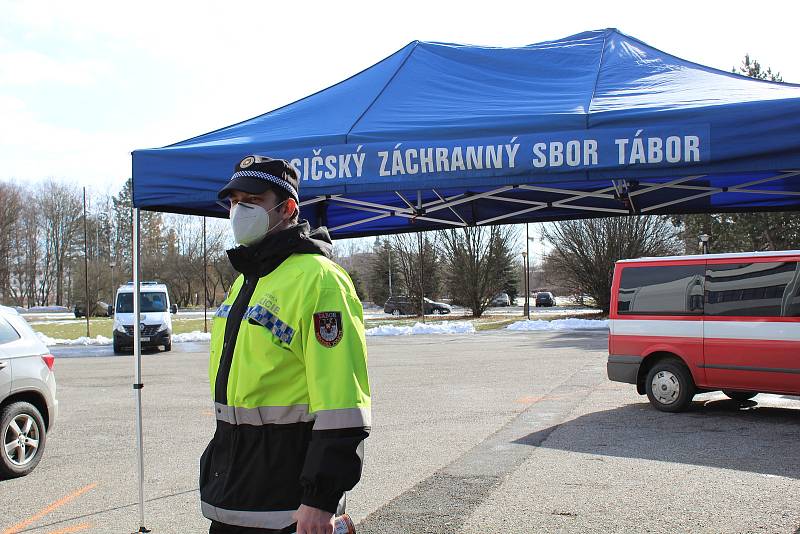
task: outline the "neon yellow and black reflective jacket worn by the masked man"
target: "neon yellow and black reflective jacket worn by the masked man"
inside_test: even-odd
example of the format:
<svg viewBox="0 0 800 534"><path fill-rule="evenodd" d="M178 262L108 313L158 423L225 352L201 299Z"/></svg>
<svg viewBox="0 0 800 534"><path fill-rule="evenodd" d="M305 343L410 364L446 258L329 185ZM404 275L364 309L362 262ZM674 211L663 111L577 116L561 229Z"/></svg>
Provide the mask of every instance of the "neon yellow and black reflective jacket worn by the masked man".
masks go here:
<svg viewBox="0 0 800 534"><path fill-rule="evenodd" d="M300 504L336 512L361 477L366 360L361 302L333 261L293 254L239 276L211 336L217 428L201 458L203 514L280 529Z"/></svg>

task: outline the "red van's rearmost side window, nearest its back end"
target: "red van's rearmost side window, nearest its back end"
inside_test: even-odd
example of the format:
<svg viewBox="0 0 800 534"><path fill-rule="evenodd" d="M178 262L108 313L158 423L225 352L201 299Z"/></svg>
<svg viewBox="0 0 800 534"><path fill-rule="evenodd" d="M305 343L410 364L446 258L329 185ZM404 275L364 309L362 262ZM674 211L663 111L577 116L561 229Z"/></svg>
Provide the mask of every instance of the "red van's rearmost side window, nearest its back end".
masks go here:
<svg viewBox="0 0 800 534"><path fill-rule="evenodd" d="M704 265L625 267L619 284L620 315L700 315Z"/></svg>

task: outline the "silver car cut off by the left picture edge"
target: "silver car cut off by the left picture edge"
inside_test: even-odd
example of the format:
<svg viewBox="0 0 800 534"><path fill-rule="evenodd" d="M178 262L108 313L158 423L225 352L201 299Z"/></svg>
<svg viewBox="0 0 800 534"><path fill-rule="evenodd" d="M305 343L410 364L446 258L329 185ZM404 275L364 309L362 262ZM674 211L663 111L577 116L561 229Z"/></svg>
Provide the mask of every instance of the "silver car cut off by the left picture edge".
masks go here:
<svg viewBox="0 0 800 534"><path fill-rule="evenodd" d="M0 306L0 479L39 464L58 416L55 358L25 319Z"/></svg>

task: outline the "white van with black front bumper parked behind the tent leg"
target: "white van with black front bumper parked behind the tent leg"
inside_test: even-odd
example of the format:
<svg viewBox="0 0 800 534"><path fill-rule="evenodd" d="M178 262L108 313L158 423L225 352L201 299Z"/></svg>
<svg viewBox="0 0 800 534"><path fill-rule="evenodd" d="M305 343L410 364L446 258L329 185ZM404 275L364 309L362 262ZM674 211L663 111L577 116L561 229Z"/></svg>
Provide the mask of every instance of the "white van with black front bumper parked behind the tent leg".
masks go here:
<svg viewBox="0 0 800 534"><path fill-rule="evenodd" d="M139 330L142 347L172 350L172 315L177 304L170 304L167 286L158 282L142 282ZM133 282L117 289L114 299L114 354L133 348Z"/></svg>

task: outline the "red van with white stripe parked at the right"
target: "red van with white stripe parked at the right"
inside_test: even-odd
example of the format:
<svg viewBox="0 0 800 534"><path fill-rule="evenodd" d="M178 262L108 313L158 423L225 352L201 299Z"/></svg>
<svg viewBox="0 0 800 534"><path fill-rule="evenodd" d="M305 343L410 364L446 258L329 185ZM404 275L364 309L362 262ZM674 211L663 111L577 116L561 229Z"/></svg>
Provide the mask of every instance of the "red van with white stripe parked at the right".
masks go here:
<svg viewBox="0 0 800 534"><path fill-rule="evenodd" d="M618 261L609 318L608 378L659 410L800 395L800 250Z"/></svg>

